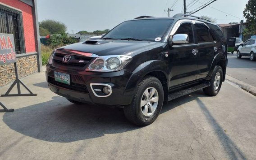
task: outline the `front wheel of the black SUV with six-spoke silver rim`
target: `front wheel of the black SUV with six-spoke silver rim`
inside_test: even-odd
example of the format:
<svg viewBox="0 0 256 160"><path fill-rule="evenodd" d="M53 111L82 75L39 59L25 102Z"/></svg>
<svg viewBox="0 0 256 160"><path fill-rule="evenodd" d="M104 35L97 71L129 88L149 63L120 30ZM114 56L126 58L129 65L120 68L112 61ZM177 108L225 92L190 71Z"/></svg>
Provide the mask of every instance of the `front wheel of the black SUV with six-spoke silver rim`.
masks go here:
<svg viewBox="0 0 256 160"><path fill-rule="evenodd" d="M164 90L159 79L147 76L137 85L130 106L124 107L125 117L139 126L153 123L158 117L164 102Z"/></svg>

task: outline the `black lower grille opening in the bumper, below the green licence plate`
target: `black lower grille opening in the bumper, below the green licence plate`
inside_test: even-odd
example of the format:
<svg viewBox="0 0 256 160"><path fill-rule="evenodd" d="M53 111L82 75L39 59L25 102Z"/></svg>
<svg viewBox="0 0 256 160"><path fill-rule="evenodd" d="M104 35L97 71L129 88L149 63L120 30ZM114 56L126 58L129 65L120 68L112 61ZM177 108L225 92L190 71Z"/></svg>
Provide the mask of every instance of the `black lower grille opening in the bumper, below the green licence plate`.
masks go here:
<svg viewBox="0 0 256 160"><path fill-rule="evenodd" d="M74 83L72 80L72 75L71 75L71 79L70 79L70 85L69 84L64 84L61 82L57 82L55 81L55 79L53 77L48 76L48 82L55 85L55 86L60 86L62 88L66 88L72 91L79 91L79 92L83 92L83 93L89 93L88 89L86 87L86 85L84 84L78 84L78 83Z"/></svg>

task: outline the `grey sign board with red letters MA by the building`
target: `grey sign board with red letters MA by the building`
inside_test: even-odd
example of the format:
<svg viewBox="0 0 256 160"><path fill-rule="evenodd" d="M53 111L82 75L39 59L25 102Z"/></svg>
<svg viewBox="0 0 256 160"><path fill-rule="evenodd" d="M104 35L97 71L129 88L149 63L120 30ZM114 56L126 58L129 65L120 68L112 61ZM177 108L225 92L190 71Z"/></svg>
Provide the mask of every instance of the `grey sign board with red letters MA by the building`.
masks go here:
<svg viewBox="0 0 256 160"><path fill-rule="evenodd" d="M0 65L16 62L14 35L0 33Z"/></svg>

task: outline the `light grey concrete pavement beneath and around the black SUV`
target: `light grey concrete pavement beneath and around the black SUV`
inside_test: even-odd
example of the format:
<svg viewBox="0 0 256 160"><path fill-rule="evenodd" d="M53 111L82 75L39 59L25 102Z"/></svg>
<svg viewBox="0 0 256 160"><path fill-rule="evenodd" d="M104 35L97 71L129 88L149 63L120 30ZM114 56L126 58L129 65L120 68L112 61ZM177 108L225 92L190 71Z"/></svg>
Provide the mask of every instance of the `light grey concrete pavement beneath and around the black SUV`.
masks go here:
<svg viewBox="0 0 256 160"><path fill-rule="evenodd" d="M38 96L0 97L15 108L0 113L1 160L256 159L256 97L229 82L215 97L170 101L146 127L120 108L71 104L47 89L44 73L23 82Z"/></svg>

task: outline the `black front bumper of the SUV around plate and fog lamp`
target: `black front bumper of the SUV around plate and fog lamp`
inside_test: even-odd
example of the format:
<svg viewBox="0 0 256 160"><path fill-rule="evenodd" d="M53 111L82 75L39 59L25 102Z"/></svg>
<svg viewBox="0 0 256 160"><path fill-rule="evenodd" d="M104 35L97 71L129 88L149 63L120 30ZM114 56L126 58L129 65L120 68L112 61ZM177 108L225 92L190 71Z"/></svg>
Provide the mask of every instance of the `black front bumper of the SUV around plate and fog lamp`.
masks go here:
<svg viewBox="0 0 256 160"><path fill-rule="evenodd" d="M70 85L54 80L54 72L70 74ZM95 105L124 106L131 104L133 96L125 94L125 88L132 73L120 70L117 72L86 72L75 69L46 66L46 79L51 91L65 98ZM91 84L101 83L111 86L109 96L99 97L92 91Z"/></svg>

